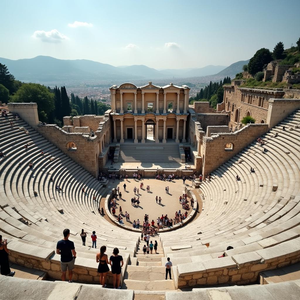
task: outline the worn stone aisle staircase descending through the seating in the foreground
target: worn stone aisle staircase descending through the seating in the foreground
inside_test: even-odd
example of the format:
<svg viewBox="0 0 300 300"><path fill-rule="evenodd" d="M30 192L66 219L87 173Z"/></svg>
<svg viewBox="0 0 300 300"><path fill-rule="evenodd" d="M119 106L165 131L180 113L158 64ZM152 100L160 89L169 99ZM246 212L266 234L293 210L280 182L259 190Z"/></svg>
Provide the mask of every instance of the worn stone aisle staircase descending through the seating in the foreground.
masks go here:
<svg viewBox="0 0 300 300"><path fill-rule="evenodd" d="M155 242L155 237L150 241ZM149 241L149 244L150 244ZM166 268L162 265L164 254L162 247L158 241L157 254L153 249L152 254L144 254L143 246L146 243L140 241L135 257L137 258L137 265L128 265L124 275L122 289L133 289L135 293L135 300L148 299L164 299L165 291L175 290L174 280L169 277L166 280ZM171 270L172 278L173 271ZM150 292L149 291L153 291ZM150 299L149 298L149 299Z"/></svg>

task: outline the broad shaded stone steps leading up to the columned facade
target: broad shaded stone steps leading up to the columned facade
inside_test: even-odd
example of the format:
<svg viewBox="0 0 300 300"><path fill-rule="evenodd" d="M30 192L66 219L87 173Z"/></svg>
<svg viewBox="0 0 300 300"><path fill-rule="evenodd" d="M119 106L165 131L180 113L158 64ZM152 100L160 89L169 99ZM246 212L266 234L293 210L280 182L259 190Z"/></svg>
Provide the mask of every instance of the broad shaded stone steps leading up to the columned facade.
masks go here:
<svg viewBox="0 0 300 300"><path fill-rule="evenodd" d="M180 163L179 144L120 144L118 162Z"/></svg>

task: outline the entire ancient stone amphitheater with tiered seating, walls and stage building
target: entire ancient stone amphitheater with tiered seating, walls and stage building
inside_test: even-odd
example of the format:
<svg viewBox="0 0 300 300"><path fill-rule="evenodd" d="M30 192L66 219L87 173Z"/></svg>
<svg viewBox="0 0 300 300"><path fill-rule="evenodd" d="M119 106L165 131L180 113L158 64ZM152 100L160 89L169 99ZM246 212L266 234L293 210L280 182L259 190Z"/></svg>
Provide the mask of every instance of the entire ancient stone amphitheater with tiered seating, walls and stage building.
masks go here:
<svg viewBox="0 0 300 300"><path fill-rule="evenodd" d="M62 129L41 124L34 103L2 107L9 113L0 119L0 234L8 240L16 274L0 276L0 298L298 299L298 91L238 85L225 87L217 111L205 102L189 107L187 86L113 86L112 110L100 117L65 117ZM249 114L263 122L241 125ZM157 127L147 139L152 124ZM130 145L135 147L125 155ZM155 148L168 155L160 160ZM191 162L185 161L187 154ZM123 226L110 213L114 184L98 180L100 173L132 178L136 170L143 178L175 174L180 183L183 175L211 174L186 184L184 191L197 200L190 216L152 237L160 254L143 255L140 230ZM98 212L103 203L106 217ZM65 228L77 252L72 285L61 282L55 253ZM111 271L108 288L99 285L98 249L82 246L81 228L96 230L108 256L119 248L122 289L110 288ZM165 280L167 257L173 280Z"/></svg>

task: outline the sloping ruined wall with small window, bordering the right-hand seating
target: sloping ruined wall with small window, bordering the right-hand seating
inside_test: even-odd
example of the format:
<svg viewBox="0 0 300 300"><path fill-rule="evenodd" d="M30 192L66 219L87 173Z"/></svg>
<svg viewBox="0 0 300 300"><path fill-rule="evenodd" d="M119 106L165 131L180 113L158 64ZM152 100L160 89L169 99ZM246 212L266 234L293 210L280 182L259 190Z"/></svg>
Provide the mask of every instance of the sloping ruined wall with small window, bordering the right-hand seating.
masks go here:
<svg viewBox="0 0 300 300"><path fill-rule="evenodd" d="M208 174L224 164L252 141L268 131L268 124L248 124L234 133L220 133L203 138L203 174ZM225 150L232 143L232 150Z"/></svg>

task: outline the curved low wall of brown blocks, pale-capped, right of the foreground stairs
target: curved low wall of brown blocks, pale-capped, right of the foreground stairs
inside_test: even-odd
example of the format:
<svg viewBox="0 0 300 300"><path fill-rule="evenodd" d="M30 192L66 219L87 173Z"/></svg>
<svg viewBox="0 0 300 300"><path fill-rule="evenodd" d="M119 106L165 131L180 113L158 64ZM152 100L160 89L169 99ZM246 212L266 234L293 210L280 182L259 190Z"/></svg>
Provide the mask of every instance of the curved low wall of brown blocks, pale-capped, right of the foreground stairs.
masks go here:
<svg viewBox="0 0 300 300"><path fill-rule="evenodd" d="M256 282L261 271L298 263L300 261L299 239L295 238L253 252L177 265L174 273L178 276L176 288L224 283L244 285Z"/></svg>

